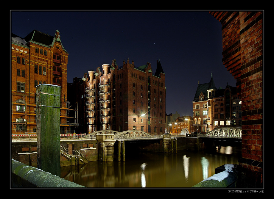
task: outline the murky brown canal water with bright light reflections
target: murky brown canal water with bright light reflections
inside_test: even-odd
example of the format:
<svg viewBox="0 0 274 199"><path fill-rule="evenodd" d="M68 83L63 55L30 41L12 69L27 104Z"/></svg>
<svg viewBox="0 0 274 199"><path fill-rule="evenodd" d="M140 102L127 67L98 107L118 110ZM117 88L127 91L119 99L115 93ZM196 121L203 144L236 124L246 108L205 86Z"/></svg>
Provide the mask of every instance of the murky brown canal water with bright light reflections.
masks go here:
<svg viewBox="0 0 274 199"><path fill-rule="evenodd" d="M130 152L125 162L94 161L61 167L61 178L91 188L186 188L215 174L223 164L239 164L241 148L178 153Z"/></svg>

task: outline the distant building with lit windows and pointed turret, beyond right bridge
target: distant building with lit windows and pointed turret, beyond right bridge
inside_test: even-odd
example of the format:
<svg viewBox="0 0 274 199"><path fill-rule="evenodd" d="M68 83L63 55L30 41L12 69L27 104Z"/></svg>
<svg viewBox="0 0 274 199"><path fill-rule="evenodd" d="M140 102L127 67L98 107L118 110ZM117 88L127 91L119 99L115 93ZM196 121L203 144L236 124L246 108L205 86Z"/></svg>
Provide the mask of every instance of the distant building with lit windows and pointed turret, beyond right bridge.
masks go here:
<svg viewBox="0 0 274 199"><path fill-rule="evenodd" d="M217 89L212 75L208 83L198 84L193 100L193 126L201 133L216 128L242 126L242 101L236 87Z"/></svg>

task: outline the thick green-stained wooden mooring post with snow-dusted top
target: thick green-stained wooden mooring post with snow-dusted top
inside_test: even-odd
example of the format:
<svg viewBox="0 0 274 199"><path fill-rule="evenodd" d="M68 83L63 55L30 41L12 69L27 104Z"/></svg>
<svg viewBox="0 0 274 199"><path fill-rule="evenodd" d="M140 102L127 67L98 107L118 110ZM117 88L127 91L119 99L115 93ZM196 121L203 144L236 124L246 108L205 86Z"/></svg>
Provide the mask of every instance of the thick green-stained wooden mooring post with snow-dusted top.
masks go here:
<svg viewBox="0 0 274 199"><path fill-rule="evenodd" d="M60 177L60 87L36 87L37 167Z"/></svg>

